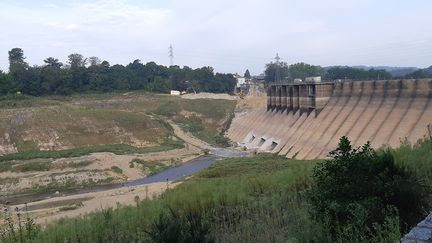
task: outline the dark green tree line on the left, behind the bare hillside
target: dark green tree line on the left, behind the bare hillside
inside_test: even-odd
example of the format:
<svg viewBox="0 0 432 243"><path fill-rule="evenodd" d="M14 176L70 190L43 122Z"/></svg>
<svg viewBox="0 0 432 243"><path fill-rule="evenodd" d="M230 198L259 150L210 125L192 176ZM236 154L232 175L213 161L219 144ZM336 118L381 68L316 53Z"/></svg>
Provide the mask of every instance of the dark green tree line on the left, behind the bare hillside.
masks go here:
<svg viewBox="0 0 432 243"><path fill-rule="evenodd" d="M155 62L134 60L126 66L113 65L98 57L85 58L74 53L66 64L48 57L42 66L30 66L24 51L9 51L9 72L0 70L0 95L21 92L27 95L68 95L87 91L146 90L167 93L232 92L236 79L231 74L214 73L212 67L192 69L184 66L162 66Z"/></svg>

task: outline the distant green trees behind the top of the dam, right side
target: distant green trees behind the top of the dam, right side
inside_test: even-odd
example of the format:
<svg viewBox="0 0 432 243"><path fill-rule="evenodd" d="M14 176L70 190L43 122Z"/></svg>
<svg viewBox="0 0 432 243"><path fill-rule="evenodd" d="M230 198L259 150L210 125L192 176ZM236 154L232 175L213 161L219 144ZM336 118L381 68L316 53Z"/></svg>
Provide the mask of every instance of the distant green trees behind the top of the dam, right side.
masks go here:
<svg viewBox="0 0 432 243"><path fill-rule="evenodd" d="M382 69L362 69L349 66L321 67L307 63L288 65L286 62L266 64L265 80L268 83L293 82L306 77L321 76L323 80L388 80L392 78L432 78L432 66L404 76L394 76Z"/></svg>

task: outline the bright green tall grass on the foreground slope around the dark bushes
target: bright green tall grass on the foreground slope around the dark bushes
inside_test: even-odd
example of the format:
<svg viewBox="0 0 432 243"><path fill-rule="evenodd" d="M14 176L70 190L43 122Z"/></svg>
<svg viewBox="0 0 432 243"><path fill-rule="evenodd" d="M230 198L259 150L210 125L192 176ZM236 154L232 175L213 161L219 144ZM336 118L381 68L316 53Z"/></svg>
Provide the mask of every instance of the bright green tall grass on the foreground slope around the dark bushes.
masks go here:
<svg viewBox="0 0 432 243"><path fill-rule="evenodd" d="M398 164L431 181L432 143L394 150ZM259 155L215 165L136 207L62 220L39 233L36 242L148 241L145 233L161 212L199 212L219 242L326 242L327 233L308 217L304 190L314 161Z"/></svg>

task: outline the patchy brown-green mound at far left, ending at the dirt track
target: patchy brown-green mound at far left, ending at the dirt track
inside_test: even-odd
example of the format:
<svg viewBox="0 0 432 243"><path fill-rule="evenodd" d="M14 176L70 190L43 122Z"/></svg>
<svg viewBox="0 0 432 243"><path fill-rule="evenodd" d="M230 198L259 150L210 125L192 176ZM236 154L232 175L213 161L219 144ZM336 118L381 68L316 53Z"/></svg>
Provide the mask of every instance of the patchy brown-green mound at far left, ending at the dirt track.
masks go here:
<svg viewBox="0 0 432 243"><path fill-rule="evenodd" d="M33 105L0 112L0 130L9 134L20 152L120 143L134 145L136 140L151 146L163 143L169 132L146 114L40 99L34 98Z"/></svg>

